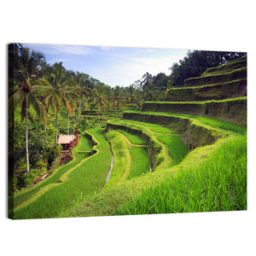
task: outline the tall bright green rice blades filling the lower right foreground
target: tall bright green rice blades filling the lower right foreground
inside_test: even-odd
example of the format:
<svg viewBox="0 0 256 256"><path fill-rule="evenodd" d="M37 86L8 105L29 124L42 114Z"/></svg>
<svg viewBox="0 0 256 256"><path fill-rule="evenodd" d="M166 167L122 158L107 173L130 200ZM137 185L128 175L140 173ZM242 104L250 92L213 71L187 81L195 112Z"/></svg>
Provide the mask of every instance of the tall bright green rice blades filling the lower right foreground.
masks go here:
<svg viewBox="0 0 256 256"><path fill-rule="evenodd" d="M230 137L200 164L153 183L118 213L216 212L247 209L247 137Z"/></svg>

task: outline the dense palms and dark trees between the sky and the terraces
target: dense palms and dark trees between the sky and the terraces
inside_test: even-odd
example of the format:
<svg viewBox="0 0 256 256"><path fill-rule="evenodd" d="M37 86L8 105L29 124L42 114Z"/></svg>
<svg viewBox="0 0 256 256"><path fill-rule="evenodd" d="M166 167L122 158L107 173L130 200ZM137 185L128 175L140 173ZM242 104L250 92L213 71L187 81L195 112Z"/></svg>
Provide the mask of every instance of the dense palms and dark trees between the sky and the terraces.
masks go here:
<svg viewBox="0 0 256 256"><path fill-rule="evenodd" d="M118 119L124 109L138 109L144 101L161 101L167 88L182 86L184 79L200 75L207 67L244 55L189 51L183 60L172 64L170 76L145 73L142 80L128 87L112 88L87 73L68 71L62 62L49 65L44 55L22 44L9 44L9 180L14 182L11 189L29 185L17 186L17 173L26 172L26 177L30 177L31 170L38 170L39 175L43 169L59 164L60 134L100 128L113 111L112 117ZM83 115L84 111L95 112L97 119Z"/></svg>

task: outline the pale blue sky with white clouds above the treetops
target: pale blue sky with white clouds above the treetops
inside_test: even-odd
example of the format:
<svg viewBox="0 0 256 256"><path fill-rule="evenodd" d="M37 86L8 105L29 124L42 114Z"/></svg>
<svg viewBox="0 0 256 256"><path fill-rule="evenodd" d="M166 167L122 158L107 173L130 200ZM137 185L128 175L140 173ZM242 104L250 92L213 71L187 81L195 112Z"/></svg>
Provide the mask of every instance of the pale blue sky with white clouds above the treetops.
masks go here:
<svg viewBox="0 0 256 256"><path fill-rule="evenodd" d="M148 49L108 46L22 44L44 54L49 64L63 62L67 70L88 73L112 87L129 86L143 74L170 75L168 67L183 60L187 49Z"/></svg>

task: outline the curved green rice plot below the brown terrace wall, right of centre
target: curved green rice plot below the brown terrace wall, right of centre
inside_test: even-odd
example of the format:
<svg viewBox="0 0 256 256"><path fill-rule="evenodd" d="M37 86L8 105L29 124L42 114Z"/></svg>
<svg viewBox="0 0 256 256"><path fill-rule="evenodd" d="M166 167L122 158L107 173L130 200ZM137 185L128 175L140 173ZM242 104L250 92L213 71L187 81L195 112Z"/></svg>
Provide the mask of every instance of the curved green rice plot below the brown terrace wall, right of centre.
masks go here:
<svg viewBox="0 0 256 256"><path fill-rule="evenodd" d="M165 143L170 148L172 163L168 167L179 164L188 154L188 150L180 137L158 135L157 139L160 140L161 143Z"/></svg>

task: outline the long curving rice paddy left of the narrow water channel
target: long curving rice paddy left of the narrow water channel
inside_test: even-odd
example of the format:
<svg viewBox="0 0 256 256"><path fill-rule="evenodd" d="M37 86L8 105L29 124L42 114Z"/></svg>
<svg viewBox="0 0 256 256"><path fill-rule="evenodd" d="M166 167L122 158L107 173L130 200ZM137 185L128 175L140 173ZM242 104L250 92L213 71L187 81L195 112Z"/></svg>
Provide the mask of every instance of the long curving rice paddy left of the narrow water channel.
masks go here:
<svg viewBox="0 0 256 256"><path fill-rule="evenodd" d="M110 148L102 129L89 132L98 143L96 154L64 173L59 179L61 183L49 184L38 191L34 200L14 212L14 218L55 218L59 212L72 207L78 198L102 189L111 163Z"/></svg>

